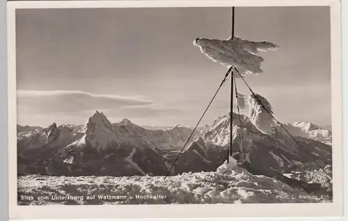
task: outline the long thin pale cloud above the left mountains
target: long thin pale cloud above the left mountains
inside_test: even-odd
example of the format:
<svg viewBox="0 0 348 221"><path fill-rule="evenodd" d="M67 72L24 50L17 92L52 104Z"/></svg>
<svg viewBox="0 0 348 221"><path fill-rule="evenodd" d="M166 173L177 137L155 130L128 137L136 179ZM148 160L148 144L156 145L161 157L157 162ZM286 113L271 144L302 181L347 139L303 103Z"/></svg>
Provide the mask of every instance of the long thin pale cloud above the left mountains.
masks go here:
<svg viewBox="0 0 348 221"><path fill-rule="evenodd" d="M19 90L19 113L75 113L127 106L146 106L153 101L143 96L97 95L79 90Z"/></svg>

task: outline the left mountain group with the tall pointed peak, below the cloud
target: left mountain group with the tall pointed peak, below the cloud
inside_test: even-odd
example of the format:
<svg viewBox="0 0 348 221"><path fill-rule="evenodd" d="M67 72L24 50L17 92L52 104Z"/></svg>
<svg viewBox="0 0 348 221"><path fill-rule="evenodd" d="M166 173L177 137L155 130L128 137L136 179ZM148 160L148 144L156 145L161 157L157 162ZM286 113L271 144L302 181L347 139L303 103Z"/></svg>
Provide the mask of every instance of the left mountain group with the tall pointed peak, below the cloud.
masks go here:
<svg viewBox="0 0 348 221"><path fill-rule="evenodd" d="M77 130L79 129L79 130ZM178 149L191 129L143 129L122 120L111 124L96 111L83 126L56 126L17 136L19 174L164 175L168 149Z"/></svg>

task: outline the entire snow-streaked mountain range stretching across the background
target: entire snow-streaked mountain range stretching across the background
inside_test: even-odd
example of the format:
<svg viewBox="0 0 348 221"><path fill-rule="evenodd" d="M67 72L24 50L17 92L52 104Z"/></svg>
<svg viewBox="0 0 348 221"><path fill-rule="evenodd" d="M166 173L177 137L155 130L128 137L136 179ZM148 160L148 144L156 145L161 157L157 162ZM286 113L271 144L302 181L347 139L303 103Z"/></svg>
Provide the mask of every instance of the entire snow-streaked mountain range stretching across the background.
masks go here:
<svg viewBox="0 0 348 221"><path fill-rule="evenodd" d="M285 172L313 158L331 164L329 129L310 122L283 124L295 142L283 127L274 127L266 135L245 115L240 115L240 121L236 113L232 115L233 152L245 154L262 174ZM112 124L99 111L83 125L17 125L17 172L19 176L163 176L191 132L179 124L168 129L145 129L127 119ZM171 174L215 171L226 160L228 149L230 115L225 115L193 133Z"/></svg>

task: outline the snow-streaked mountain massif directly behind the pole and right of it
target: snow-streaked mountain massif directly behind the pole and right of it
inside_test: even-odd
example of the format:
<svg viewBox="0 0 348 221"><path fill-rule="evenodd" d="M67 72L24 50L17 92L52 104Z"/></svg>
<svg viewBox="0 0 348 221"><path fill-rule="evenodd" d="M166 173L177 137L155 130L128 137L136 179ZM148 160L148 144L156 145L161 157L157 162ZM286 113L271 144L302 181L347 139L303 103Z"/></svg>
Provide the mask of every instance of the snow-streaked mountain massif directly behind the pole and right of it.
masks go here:
<svg viewBox="0 0 348 221"><path fill-rule="evenodd" d="M246 160L258 172L274 177L274 171L283 172L301 163L312 161L313 158L322 161L324 165L331 164L330 145L296 136L299 145L280 126L272 128L274 132L271 135L266 135L259 131L248 117L244 115L240 117L242 125L239 122L239 116L233 113L232 152L238 156L246 152ZM195 166L196 163L189 165L187 161L205 160L210 162L202 164L205 170L216 170L226 160L229 149L230 116L226 115L215 120L214 124L207 129L203 139L196 140L182 153L177 165L182 165L180 172L185 170L199 172L201 165ZM197 158L202 159L199 161Z"/></svg>

